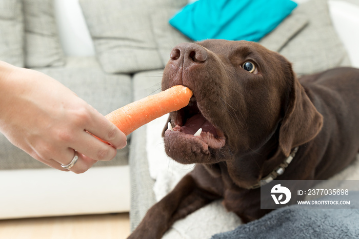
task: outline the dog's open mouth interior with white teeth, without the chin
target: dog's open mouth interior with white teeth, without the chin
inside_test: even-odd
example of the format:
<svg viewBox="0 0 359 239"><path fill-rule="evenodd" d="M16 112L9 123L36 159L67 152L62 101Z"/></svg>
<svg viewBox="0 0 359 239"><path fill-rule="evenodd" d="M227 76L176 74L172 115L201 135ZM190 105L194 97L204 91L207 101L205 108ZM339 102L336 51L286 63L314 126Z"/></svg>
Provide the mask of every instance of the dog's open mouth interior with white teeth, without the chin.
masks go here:
<svg viewBox="0 0 359 239"><path fill-rule="evenodd" d="M226 138L220 129L208 121L197 106L194 96L191 97L189 104L172 113L172 120L168 123L165 136L177 134L176 137L184 137L188 143L199 143L202 150L208 148L219 149L226 144ZM172 135L174 136L174 135Z"/></svg>

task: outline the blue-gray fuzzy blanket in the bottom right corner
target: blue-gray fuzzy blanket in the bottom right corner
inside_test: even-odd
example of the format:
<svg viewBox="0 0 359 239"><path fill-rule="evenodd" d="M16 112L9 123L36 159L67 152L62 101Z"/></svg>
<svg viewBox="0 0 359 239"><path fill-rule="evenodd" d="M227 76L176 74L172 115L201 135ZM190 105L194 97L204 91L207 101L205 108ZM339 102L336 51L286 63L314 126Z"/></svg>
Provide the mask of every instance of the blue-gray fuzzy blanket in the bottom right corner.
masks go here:
<svg viewBox="0 0 359 239"><path fill-rule="evenodd" d="M351 192L346 200L350 200L351 209L287 206L211 239L359 238L359 192Z"/></svg>

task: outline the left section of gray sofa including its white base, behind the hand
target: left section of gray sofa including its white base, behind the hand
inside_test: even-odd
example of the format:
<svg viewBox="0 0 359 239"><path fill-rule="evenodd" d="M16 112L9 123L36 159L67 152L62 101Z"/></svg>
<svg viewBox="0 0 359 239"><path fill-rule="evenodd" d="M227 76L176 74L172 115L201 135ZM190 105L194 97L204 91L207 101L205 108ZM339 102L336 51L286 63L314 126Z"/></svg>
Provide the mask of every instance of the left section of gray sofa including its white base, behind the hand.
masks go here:
<svg viewBox="0 0 359 239"><path fill-rule="evenodd" d="M64 54L54 7L53 0L0 1L0 59L52 76L104 115L132 102L131 74L107 73L93 55ZM69 175L34 160L0 133L0 218L129 211L130 136L128 142L114 160ZM113 199L98 204L97 195Z"/></svg>

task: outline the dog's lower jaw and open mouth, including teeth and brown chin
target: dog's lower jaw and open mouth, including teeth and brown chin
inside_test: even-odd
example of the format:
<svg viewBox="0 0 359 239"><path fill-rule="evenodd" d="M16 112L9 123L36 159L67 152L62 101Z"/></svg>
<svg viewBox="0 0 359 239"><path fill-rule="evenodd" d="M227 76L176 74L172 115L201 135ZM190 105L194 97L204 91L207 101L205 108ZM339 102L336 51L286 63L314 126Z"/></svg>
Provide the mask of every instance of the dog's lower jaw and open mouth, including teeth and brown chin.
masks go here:
<svg viewBox="0 0 359 239"><path fill-rule="evenodd" d="M170 119L164 135L165 149L179 163L209 163L211 153L226 145L224 132L204 116L195 97L187 107L172 112Z"/></svg>

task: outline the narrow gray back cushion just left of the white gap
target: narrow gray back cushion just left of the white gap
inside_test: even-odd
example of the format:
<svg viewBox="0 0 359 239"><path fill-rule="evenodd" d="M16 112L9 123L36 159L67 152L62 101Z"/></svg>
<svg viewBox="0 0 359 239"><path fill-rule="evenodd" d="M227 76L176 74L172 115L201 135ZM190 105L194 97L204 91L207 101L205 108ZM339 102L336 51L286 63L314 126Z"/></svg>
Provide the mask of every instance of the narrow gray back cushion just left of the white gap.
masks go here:
<svg viewBox="0 0 359 239"><path fill-rule="evenodd" d="M53 0L23 0L25 19L25 66L65 64L54 17Z"/></svg>

